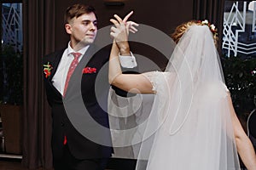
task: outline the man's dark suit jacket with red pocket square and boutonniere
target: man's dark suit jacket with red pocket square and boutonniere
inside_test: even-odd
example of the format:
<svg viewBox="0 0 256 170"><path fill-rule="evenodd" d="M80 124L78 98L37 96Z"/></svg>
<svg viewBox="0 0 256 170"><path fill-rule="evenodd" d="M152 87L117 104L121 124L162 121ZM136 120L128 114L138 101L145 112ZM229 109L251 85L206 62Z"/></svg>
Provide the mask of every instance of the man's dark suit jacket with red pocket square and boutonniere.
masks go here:
<svg viewBox="0 0 256 170"><path fill-rule="evenodd" d="M53 67L49 77L44 75L44 85L49 105L52 108L51 144L54 159L60 159L62 156L65 135L67 136L69 150L77 159L109 157L113 152L107 114L109 90L107 62L109 51L98 51L94 45L90 45L73 72L64 98L52 82L63 52L64 49L56 51L53 54L48 54L43 59L44 65L49 62ZM96 73L83 74L85 67L96 68ZM91 121L90 118L84 118L84 111L78 108L78 105L81 105L81 100L85 106L84 108L89 112L90 118L92 117L102 127L107 127L105 130L94 129L90 124L94 121ZM90 138L84 137L84 133L81 134L79 131L81 128L74 126L70 117L73 117L75 122L76 120L81 121L78 124L84 128L83 130L92 131L98 141L104 141L107 146L96 144Z"/></svg>

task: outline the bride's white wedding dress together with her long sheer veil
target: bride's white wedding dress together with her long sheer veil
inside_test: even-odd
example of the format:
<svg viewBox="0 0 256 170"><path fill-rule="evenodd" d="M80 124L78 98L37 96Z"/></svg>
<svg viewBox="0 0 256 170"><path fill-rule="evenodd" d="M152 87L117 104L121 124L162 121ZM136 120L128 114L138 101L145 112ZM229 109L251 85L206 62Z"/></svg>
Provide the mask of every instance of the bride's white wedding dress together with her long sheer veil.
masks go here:
<svg viewBox="0 0 256 170"><path fill-rule="evenodd" d="M223 72L208 26L191 26L155 91L137 170L240 169Z"/></svg>

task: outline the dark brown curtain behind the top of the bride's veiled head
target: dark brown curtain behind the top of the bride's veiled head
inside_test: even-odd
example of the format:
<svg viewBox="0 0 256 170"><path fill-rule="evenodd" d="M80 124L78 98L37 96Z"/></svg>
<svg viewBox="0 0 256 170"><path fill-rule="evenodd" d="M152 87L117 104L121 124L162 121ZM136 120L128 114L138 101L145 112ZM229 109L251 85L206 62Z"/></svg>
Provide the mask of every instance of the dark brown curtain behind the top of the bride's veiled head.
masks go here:
<svg viewBox="0 0 256 170"><path fill-rule="evenodd" d="M209 20L218 28L218 51L221 50L225 0L194 0L193 18Z"/></svg>

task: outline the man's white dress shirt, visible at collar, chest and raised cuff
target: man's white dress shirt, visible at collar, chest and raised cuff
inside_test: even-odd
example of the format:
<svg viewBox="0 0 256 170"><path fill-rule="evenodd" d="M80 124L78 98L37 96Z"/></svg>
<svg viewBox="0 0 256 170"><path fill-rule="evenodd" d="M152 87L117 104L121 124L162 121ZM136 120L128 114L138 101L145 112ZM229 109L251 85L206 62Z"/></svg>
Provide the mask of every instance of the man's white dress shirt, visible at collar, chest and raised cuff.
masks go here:
<svg viewBox="0 0 256 170"><path fill-rule="evenodd" d="M55 72L55 76L52 78L53 85L55 88L63 95L64 86L66 82L67 72L69 69L69 65L71 65L73 61L73 52L82 54L79 57L79 61L84 57L84 54L89 46L86 46L79 51L74 51L70 46L70 42L68 42L67 48L62 54L61 61L58 65L57 71ZM133 54L131 56L119 55L120 64L124 68L134 68L137 66L137 62Z"/></svg>

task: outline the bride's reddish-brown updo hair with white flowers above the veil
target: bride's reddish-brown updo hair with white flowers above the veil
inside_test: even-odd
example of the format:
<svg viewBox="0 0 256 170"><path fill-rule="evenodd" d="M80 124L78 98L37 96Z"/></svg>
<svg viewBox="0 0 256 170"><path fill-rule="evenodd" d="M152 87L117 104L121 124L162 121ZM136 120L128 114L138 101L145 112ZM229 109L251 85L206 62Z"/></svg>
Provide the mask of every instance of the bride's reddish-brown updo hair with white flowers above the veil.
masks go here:
<svg viewBox="0 0 256 170"><path fill-rule="evenodd" d="M201 21L201 20L189 20L188 22L184 22L183 24L176 27L175 31L172 33L171 37L174 42L178 42L180 38L183 36L183 33L188 30L190 26L208 26L209 29L212 31L212 37L214 39L215 46L218 44L218 34L217 34L217 28L215 28L214 25L211 25L208 23L207 20Z"/></svg>

